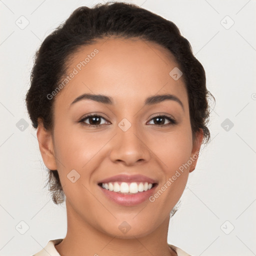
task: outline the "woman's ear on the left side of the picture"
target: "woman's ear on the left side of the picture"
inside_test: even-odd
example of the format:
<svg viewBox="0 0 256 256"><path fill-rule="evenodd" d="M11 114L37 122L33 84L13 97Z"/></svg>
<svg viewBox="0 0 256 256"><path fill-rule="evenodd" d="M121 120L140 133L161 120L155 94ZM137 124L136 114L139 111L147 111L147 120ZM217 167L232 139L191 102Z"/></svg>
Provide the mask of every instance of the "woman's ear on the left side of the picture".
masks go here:
<svg viewBox="0 0 256 256"><path fill-rule="evenodd" d="M57 165L54 156L52 135L49 131L45 130L41 119L38 119L36 135L44 164L48 169L56 170Z"/></svg>

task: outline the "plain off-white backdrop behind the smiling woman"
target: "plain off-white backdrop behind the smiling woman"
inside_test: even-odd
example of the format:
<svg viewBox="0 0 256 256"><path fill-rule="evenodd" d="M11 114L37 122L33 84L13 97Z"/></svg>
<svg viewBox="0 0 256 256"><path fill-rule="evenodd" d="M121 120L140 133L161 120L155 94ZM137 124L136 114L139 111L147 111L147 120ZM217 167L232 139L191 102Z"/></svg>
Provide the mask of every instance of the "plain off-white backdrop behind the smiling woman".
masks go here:
<svg viewBox="0 0 256 256"><path fill-rule="evenodd" d="M24 97L42 40L76 7L97 2L0 0L0 255L32 255L66 234L65 204L55 205L43 188L45 167ZM216 99L211 141L189 174L168 243L194 256L256 255L256 1L127 2L178 26Z"/></svg>

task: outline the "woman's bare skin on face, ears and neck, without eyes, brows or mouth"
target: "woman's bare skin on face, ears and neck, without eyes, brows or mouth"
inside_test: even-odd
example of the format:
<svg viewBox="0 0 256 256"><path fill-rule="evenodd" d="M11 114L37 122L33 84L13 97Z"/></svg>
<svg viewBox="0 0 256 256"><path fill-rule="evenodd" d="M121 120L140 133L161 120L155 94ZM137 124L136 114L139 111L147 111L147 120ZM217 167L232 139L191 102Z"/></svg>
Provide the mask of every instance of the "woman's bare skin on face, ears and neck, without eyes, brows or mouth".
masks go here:
<svg viewBox="0 0 256 256"><path fill-rule="evenodd" d="M203 135L196 133L193 143L182 76L169 75L178 65L158 44L109 37L82 46L67 73L95 48L95 57L55 96L53 131L42 122L37 129L43 161L58 170L66 196L67 234L55 248L61 255L176 255L167 246L169 214L197 159L154 202L118 205L102 195L97 182L120 173L143 174L161 187L199 151ZM83 93L111 96L113 104L84 99L70 106ZM184 109L174 100L143 106L146 97L164 93L178 97ZM102 126L78 122L88 113L101 115ZM157 126L152 118L158 113L177 123L166 126L169 120L163 119ZM123 118L131 123L126 131L117 125ZM72 169L80 174L74 183L67 178ZM131 227L125 234L118 228L123 221Z"/></svg>

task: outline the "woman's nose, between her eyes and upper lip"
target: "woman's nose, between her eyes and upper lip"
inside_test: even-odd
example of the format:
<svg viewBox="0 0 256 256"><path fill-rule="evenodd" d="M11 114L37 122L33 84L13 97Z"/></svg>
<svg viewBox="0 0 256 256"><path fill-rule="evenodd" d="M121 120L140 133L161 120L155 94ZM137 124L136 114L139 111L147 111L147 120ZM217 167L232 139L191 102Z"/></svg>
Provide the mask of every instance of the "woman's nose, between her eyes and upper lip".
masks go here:
<svg viewBox="0 0 256 256"><path fill-rule="evenodd" d="M126 166L146 162L150 158L147 136L132 124L126 131L117 126L116 135L111 140L109 157L112 162L122 162Z"/></svg>

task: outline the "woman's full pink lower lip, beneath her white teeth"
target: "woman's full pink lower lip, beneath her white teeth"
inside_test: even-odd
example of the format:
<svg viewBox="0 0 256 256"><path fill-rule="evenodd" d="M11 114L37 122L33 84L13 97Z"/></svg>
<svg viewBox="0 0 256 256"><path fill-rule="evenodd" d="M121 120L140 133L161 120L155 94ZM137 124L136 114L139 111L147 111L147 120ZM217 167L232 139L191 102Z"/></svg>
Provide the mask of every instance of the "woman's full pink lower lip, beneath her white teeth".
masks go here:
<svg viewBox="0 0 256 256"><path fill-rule="evenodd" d="M146 199L149 200L149 196L151 196L156 188L157 184L155 184L151 189L138 192L134 194L122 194L114 191L109 191L99 185L101 191L106 195L107 198L118 203L123 206L133 206L139 203L142 203Z"/></svg>

